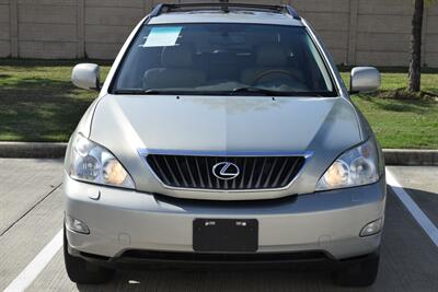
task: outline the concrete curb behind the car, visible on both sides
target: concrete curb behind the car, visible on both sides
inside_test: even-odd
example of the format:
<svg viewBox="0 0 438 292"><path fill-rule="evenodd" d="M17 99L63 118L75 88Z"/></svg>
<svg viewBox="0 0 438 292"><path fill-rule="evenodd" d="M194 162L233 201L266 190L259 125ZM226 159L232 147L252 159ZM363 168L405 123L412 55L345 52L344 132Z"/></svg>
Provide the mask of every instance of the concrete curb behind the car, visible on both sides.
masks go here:
<svg viewBox="0 0 438 292"><path fill-rule="evenodd" d="M0 157L62 159L67 143L0 142ZM438 150L383 149L387 165L438 166Z"/></svg>

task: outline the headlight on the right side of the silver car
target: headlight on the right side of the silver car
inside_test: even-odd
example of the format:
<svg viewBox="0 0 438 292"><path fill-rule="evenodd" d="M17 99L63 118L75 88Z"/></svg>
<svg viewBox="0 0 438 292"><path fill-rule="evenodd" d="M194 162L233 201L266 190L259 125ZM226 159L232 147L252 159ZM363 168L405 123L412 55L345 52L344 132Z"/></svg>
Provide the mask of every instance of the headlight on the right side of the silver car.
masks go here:
<svg viewBox="0 0 438 292"><path fill-rule="evenodd" d="M316 184L316 190L361 186L379 180L379 153L373 140L342 154Z"/></svg>

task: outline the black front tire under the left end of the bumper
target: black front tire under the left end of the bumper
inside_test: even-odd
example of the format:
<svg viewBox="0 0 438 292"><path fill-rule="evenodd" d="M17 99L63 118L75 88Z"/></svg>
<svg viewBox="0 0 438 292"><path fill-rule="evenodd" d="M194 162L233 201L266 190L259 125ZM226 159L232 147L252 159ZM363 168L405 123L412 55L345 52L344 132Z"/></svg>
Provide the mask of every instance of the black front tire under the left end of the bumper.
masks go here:
<svg viewBox="0 0 438 292"><path fill-rule="evenodd" d="M114 270L99 267L69 254L66 227L64 227L64 261L68 277L78 284L102 284L114 278Z"/></svg>

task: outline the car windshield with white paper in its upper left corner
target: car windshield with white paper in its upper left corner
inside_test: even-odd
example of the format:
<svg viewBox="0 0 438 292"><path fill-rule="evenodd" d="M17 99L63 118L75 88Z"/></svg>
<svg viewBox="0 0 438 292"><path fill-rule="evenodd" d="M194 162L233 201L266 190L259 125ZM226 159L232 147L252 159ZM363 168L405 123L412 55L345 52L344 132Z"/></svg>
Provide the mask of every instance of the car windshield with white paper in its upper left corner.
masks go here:
<svg viewBox="0 0 438 292"><path fill-rule="evenodd" d="M211 23L140 30L113 93L336 95L304 27Z"/></svg>

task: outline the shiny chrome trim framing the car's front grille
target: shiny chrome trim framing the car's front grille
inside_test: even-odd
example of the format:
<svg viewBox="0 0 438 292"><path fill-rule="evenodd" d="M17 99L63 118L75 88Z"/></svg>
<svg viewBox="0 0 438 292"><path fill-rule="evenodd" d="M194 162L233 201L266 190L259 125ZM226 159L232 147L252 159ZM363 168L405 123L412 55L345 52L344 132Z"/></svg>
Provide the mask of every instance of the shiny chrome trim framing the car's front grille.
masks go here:
<svg viewBox="0 0 438 292"><path fill-rule="evenodd" d="M290 188L290 186L295 183L295 180L301 175L306 165L312 159L314 152L313 151L272 151L272 152L262 152L262 151L193 151L193 150L166 150L166 149L137 149L140 159L145 162L146 166L150 171L150 173L155 177L160 184L166 188L172 190L181 190L181 191L205 191L205 192L262 192L262 191L280 191ZM260 188L260 189L208 189L208 188L184 188L184 187L172 187L164 184L160 177L155 174L152 167L149 165L147 161L147 156L149 154L161 154L161 155L191 155L191 156L302 156L304 157L304 163L301 166L301 170L297 173L293 179L285 187L280 188Z"/></svg>

